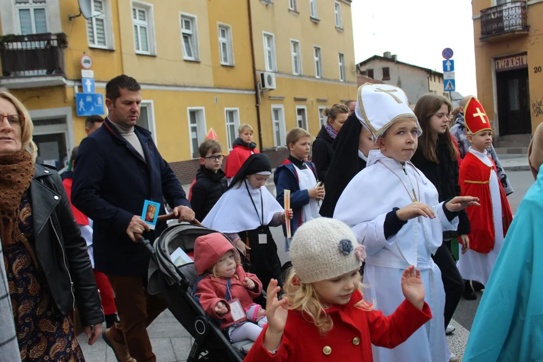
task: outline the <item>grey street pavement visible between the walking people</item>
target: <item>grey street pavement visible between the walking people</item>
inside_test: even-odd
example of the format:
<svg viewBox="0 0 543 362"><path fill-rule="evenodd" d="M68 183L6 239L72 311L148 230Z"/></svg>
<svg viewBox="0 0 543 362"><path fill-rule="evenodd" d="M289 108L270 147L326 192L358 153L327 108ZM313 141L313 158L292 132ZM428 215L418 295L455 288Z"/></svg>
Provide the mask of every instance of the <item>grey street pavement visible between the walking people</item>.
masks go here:
<svg viewBox="0 0 543 362"><path fill-rule="evenodd" d="M525 157L513 157L501 160L506 167L509 180L512 182L515 192L508 196L509 204L513 214L516 212L520 201L526 194L526 191L533 183L532 173L525 171L527 162ZM517 169L516 171L513 169ZM188 190L188 185L184 185ZM275 195L275 187L273 179L270 177L270 182L267 185L271 193ZM283 232L280 227L271 229L271 233L277 243L277 249L281 262L285 263L289 260L288 254L282 251ZM471 323L475 317L479 300L482 293L479 292L478 298L475 301L467 301L462 299L458 305L456 313L453 316L452 325L456 327L456 331L447 337L451 351L460 358L463 355L466 342L468 341ZM104 325L105 328L105 325ZM191 350L193 339L190 334L185 331L185 328L175 319L168 310L162 313L151 325L147 328L153 351L156 354L158 362L181 362L186 361L188 353ZM86 343L85 335L79 336L79 342L85 360L87 362L116 362L115 356L111 349L106 346L102 338L96 344L89 346Z"/></svg>

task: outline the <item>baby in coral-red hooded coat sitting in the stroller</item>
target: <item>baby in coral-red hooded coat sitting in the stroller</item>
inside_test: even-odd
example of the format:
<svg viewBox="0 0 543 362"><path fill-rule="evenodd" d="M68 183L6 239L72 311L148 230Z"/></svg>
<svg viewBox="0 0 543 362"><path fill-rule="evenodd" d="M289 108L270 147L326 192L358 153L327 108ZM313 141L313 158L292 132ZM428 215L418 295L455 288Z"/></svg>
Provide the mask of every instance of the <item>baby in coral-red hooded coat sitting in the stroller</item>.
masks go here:
<svg viewBox="0 0 543 362"><path fill-rule="evenodd" d="M238 251L221 233L197 238L194 257L202 308L220 320L232 342L255 341L268 322L266 310L252 301L262 293L260 280L243 270Z"/></svg>

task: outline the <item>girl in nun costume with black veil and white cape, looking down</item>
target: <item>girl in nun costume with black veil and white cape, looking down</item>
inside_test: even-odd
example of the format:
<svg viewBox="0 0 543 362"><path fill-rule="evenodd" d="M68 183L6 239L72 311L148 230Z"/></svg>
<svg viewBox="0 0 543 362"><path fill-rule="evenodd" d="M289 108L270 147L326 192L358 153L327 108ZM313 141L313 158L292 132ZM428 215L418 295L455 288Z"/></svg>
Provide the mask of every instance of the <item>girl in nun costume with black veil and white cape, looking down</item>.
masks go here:
<svg viewBox="0 0 543 362"><path fill-rule="evenodd" d="M266 188L271 175L269 157L253 154L243 163L226 192L213 206L202 224L224 233L251 262L249 271L268 288L271 278L280 280L281 262L270 226L292 219Z"/></svg>

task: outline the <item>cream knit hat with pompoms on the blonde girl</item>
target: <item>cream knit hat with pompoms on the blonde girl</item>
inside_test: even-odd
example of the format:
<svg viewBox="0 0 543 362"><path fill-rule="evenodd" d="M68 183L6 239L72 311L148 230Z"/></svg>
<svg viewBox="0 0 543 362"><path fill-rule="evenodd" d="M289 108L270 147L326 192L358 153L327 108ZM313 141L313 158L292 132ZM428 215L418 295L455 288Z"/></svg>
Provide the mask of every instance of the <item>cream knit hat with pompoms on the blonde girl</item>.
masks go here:
<svg viewBox="0 0 543 362"><path fill-rule="evenodd" d="M292 266L301 282L337 278L360 268L366 257L355 234L342 221L317 218L300 226L291 245Z"/></svg>

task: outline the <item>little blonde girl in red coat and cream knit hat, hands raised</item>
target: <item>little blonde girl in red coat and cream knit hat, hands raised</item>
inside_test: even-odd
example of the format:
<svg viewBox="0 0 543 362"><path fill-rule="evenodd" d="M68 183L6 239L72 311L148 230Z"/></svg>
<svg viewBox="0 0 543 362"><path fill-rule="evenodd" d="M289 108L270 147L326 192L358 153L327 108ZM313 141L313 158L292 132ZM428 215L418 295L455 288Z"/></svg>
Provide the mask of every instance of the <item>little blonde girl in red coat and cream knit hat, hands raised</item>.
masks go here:
<svg viewBox="0 0 543 362"><path fill-rule="evenodd" d="M358 271L365 249L339 220L318 218L300 226L291 258L285 297L277 299L280 288L272 280L268 325L245 361L368 362L373 360L372 344L394 348L432 317L414 266L403 272L406 300L392 315L384 316L364 302Z"/></svg>

